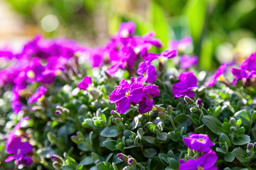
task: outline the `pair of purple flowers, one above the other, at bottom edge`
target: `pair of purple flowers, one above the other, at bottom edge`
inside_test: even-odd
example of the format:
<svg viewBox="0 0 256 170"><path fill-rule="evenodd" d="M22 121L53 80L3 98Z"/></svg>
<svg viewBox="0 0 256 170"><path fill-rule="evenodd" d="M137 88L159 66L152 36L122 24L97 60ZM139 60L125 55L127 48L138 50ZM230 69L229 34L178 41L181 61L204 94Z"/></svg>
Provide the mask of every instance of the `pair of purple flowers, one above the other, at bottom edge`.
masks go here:
<svg viewBox="0 0 256 170"><path fill-rule="evenodd" d="M189 148L189 153L186 158L189 157L190 159L186 162L184 159L181 159L179 169L218 169L217 166L214 166L218 156L211 150L211 146L213 146L214 143L210 141L208 135L190 133L189 137L184 137L184 143ZM197 152L194 152L194 150Z"/></svg>

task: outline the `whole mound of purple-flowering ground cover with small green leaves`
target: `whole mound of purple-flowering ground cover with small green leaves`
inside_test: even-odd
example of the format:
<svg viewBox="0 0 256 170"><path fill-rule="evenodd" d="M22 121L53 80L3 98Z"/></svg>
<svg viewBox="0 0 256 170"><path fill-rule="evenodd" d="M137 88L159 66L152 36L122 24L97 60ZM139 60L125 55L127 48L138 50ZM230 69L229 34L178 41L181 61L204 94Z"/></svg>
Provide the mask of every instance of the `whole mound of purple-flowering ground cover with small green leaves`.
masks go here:
<svg viewBox="0 0 256 170"><path fill-rule="evenodd" d="M255 168L256 54L212 75L193 68L191 38L135 31L1 51L1 169Z"/></svg>

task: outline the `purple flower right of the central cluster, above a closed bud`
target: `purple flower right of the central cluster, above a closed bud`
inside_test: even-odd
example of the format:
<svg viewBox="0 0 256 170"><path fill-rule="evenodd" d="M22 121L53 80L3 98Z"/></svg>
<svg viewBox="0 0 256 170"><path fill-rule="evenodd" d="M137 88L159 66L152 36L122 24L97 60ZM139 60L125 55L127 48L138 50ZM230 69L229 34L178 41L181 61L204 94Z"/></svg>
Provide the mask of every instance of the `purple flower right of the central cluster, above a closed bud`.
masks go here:
<svg viewBox="0 0 256 170"><path fill-rule="evenodd" d="M180 82L173 85L173 94L175 97L188 96L194 97L195 92L191 89L198 87L197 77L193 72L184 72L179 77Z"/></svg>

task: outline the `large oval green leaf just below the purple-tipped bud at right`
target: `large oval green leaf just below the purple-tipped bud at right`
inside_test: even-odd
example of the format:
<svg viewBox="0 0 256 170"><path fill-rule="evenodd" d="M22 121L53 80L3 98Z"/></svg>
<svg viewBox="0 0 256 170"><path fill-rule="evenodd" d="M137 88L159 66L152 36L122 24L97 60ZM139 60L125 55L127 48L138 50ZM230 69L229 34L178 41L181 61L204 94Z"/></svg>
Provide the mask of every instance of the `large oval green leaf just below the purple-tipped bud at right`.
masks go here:
<svg viewBox="0 0 256 170"><path fill-rule="evenodd" d="M202 118L202 121L213 133L216 133L216 134L223 133L223 130L221 128L222 123L216 117L206 115Z"/></svg>

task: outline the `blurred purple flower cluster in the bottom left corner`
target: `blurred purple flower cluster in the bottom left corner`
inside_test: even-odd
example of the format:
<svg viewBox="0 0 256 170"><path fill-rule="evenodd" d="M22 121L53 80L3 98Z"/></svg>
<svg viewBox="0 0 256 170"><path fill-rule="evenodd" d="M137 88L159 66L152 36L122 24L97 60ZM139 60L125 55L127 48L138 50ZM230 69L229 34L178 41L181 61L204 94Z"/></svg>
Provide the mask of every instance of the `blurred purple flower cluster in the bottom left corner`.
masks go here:
<svg viewBox="0 0 256 170"><path fill-rule="evenodd" d="M22 140L22 137L29 138L30 136L20 130L22 122L28 119L28 116L23 118L15 125L14 130L8 135L6 140L6 152L13 155L7 157L5 160L6 162L16 159L16 162L19 164L25 164L27 166L33 162L33 159L28 155L32 152L33 146L28 141Z"/></svg>

